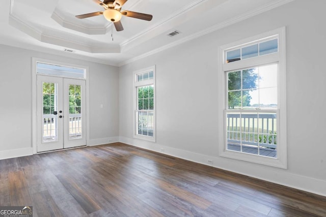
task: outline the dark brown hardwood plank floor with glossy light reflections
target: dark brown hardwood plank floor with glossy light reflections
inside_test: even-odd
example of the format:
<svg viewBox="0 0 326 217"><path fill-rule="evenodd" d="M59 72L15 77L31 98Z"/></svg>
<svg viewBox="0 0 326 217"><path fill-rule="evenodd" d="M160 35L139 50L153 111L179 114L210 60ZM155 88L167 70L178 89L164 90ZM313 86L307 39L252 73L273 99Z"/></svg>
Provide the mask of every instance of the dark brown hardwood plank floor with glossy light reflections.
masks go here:
<svg viewBox="0 0 326 217"><path fill-rule="evenodd" d="M122 143L0 161L0 206L35 216L326 216L326 198Z"/></svg>

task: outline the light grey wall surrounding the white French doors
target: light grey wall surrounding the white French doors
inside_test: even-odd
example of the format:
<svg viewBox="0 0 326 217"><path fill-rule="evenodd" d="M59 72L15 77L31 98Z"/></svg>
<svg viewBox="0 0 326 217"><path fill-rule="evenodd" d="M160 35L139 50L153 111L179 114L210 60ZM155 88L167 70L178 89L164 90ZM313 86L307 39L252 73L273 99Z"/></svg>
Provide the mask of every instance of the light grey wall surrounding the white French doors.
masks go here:
<svg viewBox="0 0 326 217"><path fill-rule="evenodd" d="M0 45L0 159L32 151L32 57L88 66L89 144L119 138L117 67Z"/></svg>

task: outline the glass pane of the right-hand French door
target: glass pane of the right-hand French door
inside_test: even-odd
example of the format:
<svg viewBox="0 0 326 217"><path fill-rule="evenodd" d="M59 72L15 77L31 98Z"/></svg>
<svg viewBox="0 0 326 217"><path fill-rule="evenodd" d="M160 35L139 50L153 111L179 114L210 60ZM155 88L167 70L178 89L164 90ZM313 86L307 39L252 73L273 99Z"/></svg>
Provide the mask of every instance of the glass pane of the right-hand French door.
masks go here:
<svg viewBox="0 0 326 217"><path fill-rule="evenodd" d="M82 138L82 91L69 84L69 139Z"/></svg>

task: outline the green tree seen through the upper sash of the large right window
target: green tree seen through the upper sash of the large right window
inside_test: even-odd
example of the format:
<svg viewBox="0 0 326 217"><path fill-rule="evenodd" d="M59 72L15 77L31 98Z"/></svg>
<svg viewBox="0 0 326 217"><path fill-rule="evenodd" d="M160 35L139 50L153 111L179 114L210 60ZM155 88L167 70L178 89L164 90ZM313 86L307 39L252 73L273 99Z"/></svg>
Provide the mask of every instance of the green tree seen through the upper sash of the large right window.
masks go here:
<svg viewBox="0 0 326 217"><path fill-rule="evenodd" d="M229 109L241 107L241 90L242 90L242 107L250 106L250 92L257 87L259 79L255 69L247 69L242 71L228 73L228 105ZM242 88L241 88L242 82Z"/></svg>

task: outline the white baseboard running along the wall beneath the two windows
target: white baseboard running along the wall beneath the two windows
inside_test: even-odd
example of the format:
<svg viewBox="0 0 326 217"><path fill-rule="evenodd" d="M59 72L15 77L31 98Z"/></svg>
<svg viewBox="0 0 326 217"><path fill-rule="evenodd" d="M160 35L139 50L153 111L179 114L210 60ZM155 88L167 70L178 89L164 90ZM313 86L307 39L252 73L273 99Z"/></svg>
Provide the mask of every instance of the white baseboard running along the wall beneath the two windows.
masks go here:
<svg viewBox="0 0 326 217"><path fill-rule="evenodd" d="M285 169L256 165L223 157L206 156L133 138L120 137L120 142L326 197L326 180L293 174ZM213 164L209 164L208 159L212 160Z"/></svg>

